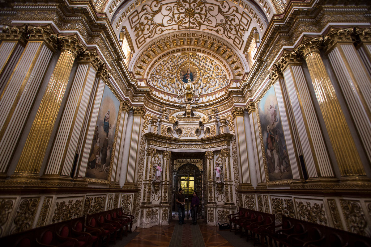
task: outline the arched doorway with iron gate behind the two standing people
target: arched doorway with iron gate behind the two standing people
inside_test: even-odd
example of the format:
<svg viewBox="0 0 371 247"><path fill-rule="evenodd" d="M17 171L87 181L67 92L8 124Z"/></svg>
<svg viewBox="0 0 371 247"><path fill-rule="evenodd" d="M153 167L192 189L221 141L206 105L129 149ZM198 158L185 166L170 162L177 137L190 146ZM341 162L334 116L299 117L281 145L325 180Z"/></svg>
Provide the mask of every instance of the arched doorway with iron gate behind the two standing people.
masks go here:
<svg viewBox="0 0 371 247"><path fill-rule="evenodd" d="M202 160L201 160L202 162ZM199 169L201 168L201 170ZM173 206L171 218L178 218L178 206L175 203L175 195L178 193L179 188L183 188L185 195L185 218L190 218L189 210L191 209L191 200L193 191L197 191L197 196L200 199L200 210L197 213L197 220L204 218L204 184L203 184L203 170L202 166L195 164L183 164L178 169L174 166L173 171Z"/></svg>

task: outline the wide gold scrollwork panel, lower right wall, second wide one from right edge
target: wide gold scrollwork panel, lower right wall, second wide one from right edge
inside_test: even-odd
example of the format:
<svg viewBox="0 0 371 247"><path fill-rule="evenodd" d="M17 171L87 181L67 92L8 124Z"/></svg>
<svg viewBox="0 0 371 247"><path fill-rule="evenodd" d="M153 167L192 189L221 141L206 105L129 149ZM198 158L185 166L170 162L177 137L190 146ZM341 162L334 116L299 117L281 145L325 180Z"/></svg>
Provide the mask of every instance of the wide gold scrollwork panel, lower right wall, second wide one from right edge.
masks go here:
<svg viewBox="0 0 371 247"><path fill-rule="evenodd" d="M299 220L329 226L323 200L294 198L294 203Z"/></svg>

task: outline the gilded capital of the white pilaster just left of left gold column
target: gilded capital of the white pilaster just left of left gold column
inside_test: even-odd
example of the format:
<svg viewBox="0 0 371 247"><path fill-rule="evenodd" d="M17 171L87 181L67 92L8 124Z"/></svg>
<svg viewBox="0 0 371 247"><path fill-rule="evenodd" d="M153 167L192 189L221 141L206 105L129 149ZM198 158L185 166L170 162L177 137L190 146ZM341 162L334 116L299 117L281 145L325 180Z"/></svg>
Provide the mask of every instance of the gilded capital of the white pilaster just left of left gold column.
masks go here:
<svg viewBox="0 0 371 247"><path fill-rule="evenodd" d="M27 39L33 41L44 41L52 51L56 51L58 48L56 36L54 34L52 26L47 25L43 27L28 27L27 28Z"/></svg>

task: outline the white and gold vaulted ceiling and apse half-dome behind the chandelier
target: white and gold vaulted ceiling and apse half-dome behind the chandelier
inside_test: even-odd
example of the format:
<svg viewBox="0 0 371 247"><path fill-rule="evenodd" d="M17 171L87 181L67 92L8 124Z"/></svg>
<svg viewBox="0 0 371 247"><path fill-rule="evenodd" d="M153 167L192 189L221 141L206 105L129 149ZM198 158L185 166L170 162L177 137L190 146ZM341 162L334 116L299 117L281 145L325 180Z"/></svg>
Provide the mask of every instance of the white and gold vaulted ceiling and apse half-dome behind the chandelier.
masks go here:
<svg viewBox="0 0 371 247"><path fill-rule="evenodd" d="M176 103L179 66L190 51L198 67L194 70L200 70L194 83L204 95L220 97L223 88L239 87L233 80L249 71L244 57L248 37L253 29L263 37L273 14L283 10L282 0L272 2L109 0L105 13L117 37L127 31L131 38L134 54L128 69L138 87L150 86L155 98Z"/></svg>

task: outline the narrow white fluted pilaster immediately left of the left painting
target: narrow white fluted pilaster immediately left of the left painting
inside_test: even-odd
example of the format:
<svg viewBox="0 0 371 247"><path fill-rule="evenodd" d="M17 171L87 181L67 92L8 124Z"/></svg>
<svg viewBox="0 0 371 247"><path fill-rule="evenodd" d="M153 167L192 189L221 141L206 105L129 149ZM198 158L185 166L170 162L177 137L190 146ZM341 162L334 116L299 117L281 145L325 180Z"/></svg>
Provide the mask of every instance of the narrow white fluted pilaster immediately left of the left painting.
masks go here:
<svg viewBox="0 0 371 247"><path fill-rule="evenodd" d="M81 147L81 156L79 159L78 173L76 176L78 180L85 180L86 169L88 168L89 157L91 155L92 141L96 127L96 119L98 117L99 107L101 106L104 87L106 83L108 83L109 76L110 74L108 73L108 70L104 69L104 67L101 67L96 74L96 90L94 92L92 109L89 110L89 118L86 119L86 121L88 121L88 127L86 128L85 133L86 138L83 141Z"/></svg>

